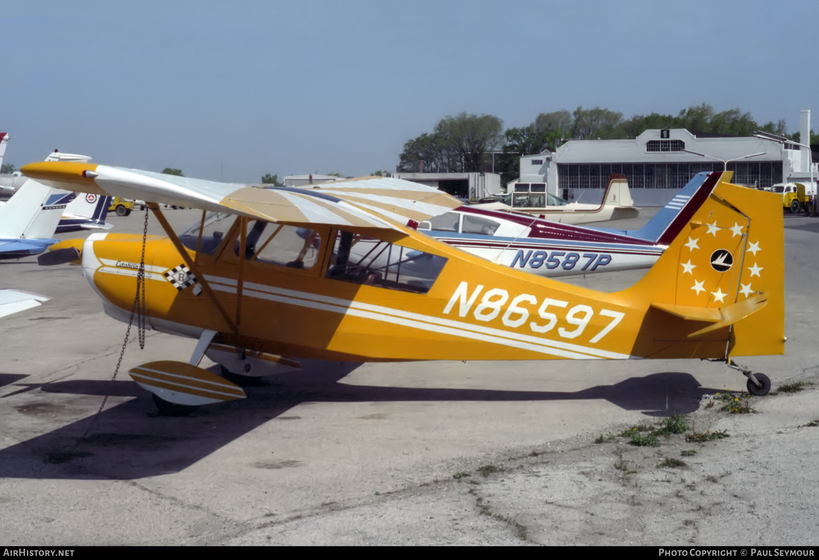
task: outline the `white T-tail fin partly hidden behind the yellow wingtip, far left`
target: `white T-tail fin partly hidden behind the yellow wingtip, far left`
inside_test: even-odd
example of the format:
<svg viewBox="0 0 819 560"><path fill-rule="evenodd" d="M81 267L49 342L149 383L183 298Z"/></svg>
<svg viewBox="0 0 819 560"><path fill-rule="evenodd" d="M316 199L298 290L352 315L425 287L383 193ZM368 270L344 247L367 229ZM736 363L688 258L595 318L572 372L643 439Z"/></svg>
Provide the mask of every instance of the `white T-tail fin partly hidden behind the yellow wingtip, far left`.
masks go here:
<svg viewBox="0 0 819 560"><path fill-rule="evenodd" d="M91 158L54 151L46 161L88 161ZM54 236L63 210L74 194L47 187L28 179L0 207L0 237L7 239L48 239Z"/></svg>

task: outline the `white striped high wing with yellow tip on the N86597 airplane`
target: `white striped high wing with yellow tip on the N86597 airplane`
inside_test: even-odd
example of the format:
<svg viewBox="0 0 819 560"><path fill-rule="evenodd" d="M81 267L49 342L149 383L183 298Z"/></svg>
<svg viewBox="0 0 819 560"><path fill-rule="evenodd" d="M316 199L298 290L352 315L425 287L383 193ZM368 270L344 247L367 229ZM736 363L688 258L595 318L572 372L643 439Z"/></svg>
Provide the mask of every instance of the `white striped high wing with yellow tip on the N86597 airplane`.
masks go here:
<svg viewBox="0 0 819 560"><path fill-rule="evenodd" d="M110 165L43 162L23 174L52 187L245 215L280 224L391 229L432 218L461 203L435 188L365 177L308 187L217 183Z"/></svg>

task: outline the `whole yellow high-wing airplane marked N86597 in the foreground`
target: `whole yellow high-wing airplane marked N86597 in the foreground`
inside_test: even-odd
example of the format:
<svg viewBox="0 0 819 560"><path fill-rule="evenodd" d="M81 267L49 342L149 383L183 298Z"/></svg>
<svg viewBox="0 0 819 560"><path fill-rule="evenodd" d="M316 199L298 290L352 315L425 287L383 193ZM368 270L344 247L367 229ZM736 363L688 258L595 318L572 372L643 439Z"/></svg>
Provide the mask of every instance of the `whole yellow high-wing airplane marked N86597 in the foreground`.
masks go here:
<svg viewBox="0 0 819 560"><path fill-rule="evenodd" d="M699 358L740 370L754 395L770 380L731 357L784 354L781 196L728 183L731 172L708 177L708 200L644 278L606 293L417 232L459 202L398 179L287 188L88 163L21 170L55 187L151 201L167 237L94 233L57 243L41 263L81 264L114 318L132 320L138 294L147 327L198 339L188 363L130 370L161 413L246 396L198 367L206 353L245 374L298 367L297 358ZM177 235L157 203L200 208L201 220Z"/></svg>

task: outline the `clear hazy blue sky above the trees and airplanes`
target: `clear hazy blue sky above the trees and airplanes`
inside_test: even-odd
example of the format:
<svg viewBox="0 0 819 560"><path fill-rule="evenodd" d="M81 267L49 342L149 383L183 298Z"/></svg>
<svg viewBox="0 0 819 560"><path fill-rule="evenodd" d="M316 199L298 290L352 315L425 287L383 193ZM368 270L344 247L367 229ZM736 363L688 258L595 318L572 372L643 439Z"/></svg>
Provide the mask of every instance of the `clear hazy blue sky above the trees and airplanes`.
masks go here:
<svg viewBox="0 0 819 560"><path fill-rule="evenodd" d="M792 132L800 109L819 120L817 14L787 0L0 1L0 131L18 166L58 147L238 182L394 170L404 142L461 111L509 128L707 102Z"/></svg>

